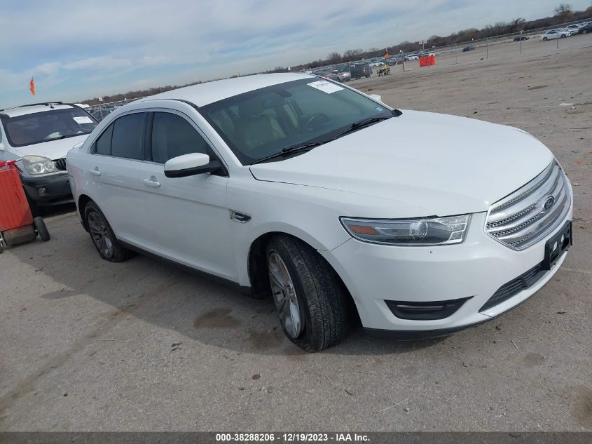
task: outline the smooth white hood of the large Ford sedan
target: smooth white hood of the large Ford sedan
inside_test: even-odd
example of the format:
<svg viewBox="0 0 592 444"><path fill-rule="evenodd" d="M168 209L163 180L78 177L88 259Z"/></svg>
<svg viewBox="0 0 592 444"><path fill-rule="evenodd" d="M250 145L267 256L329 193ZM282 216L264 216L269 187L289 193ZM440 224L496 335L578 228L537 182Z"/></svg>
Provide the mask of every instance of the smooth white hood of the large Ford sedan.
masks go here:
<svg viewBox="0 0 592 444"><path fill-rule="evenodd" d="M284 161L251 166L257 180L393 201L388 217L486 211L553 160L511 126L404 111ZM352 202L355 200L352 197Z"/></svg>

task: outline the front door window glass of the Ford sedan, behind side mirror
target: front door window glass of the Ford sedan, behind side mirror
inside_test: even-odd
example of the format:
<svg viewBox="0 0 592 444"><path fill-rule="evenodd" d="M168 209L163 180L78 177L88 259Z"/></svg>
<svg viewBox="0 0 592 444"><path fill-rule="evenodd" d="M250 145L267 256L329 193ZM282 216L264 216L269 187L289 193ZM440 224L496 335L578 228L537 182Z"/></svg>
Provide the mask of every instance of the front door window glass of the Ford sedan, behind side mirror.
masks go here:
<svg viewBox="0 0 592 444"><path fill-rule="evenodd" d="M191 123L177 114L155 112L152 123L152 160L165 163L173 157L189 153L213 154Z"/></svg>

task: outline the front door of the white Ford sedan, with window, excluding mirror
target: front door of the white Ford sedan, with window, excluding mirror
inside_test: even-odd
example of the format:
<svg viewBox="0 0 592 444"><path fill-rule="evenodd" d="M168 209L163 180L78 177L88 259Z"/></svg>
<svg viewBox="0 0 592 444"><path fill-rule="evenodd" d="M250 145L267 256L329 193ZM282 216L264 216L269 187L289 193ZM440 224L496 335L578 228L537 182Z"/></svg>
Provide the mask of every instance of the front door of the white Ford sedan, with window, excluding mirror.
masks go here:
<svg viewBox="0 0 592 444"><path fill-rule="evenodd" d="M195 122L174 110L153 112L146 132L146 161L139 174L144 247L162 257L237 280L227 175L166 177L164 164L176 156L204 153L219 159Z"/></svg>

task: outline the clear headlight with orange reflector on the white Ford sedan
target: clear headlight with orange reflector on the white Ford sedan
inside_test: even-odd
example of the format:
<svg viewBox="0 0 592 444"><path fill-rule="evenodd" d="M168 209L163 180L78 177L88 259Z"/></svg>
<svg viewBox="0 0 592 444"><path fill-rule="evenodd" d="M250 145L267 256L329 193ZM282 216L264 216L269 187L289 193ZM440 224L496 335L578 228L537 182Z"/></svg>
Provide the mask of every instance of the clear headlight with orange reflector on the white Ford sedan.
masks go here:
<svg viewBox="0 0 592 444"><path fill-rule="evenodd" d="M425 219L354 219L341 217L343 227L364 242L388 245L446 245L461 243L471 215Z"/></svg>

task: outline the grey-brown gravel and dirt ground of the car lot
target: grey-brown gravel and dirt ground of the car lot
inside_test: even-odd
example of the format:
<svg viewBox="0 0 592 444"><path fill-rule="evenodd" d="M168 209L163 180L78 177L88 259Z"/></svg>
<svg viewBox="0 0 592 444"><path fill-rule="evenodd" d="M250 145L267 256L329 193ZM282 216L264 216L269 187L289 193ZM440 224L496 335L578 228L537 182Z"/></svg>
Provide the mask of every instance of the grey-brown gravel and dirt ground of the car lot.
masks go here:
<svg viewBox="0 0 592 444"><path fill-rule="evenodd" d="M303 354L270 301L142 256L104 262L68 208L46 218L50 242L0 255L0 430L592 430L592 35L485 51L350 84L550 147L575 243L537 295L447 338L354 330Z"/></svg>

